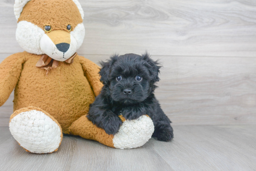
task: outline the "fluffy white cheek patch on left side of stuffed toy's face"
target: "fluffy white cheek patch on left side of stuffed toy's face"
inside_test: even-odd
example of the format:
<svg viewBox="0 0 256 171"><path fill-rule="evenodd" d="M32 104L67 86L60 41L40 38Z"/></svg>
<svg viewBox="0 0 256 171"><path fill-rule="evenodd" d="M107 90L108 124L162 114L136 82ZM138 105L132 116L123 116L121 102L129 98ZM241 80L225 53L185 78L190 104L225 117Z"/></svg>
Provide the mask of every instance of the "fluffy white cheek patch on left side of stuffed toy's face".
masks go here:
<svg viewBox="0 0 256 171"><path fill-rule="evenodd" d="M17 24L16 40L28 53L43 54L40 49L40 40L43 35L44 31L35 24L27 21L20 21Z"/></svg>

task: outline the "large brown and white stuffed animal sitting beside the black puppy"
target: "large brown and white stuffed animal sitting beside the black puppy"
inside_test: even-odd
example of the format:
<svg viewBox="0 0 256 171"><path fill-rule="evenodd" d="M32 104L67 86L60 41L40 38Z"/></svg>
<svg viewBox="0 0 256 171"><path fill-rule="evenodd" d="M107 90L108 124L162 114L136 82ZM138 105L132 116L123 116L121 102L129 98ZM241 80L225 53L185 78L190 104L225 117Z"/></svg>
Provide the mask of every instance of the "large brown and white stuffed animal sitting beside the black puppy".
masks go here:
<svg viewBox="0 0 256 171"><path fill-rule="evenodd" d="M15 0L16 40L25 50L0 64L0 106L14 90L9 128L28 152L57 151L64 134L114 148L136 148L154 132L146 115L125 120L115 135L86 117L100 93L99 66L79 56L85 27L78 0Z"/></svg>

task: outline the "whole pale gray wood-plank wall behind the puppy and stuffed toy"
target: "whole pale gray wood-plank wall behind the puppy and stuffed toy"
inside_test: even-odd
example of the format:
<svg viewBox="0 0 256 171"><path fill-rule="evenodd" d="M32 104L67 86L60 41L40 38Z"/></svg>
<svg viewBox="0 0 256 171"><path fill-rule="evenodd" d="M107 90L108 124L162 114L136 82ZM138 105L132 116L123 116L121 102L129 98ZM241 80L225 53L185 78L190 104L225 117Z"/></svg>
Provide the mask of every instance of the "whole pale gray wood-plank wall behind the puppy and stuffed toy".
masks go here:
<svg viewBox="0 0 256 171"><path fill-rule="evenodd" d="M113 53L160 59L156 96L173 125L256 121L256 1L79 0L86 36L78 54L97 63ZM0 62L23 51L14 0L0 2ZM0 107L8 126L12 99Z"/></svg>

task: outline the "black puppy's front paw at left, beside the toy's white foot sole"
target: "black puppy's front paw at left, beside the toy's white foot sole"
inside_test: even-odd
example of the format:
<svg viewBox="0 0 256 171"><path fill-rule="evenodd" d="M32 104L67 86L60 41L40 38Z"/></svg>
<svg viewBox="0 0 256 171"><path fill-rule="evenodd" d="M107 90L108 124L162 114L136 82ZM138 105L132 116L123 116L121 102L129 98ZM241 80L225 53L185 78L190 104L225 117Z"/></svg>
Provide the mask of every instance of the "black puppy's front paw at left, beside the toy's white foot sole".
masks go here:
<svg viewBox="0 0 256 171"><path fill-rule="evenodd" d="M109 115L102 123L102 128L107 134L115 134L118 132L121 125L122 121L117 115Z"/></svg>

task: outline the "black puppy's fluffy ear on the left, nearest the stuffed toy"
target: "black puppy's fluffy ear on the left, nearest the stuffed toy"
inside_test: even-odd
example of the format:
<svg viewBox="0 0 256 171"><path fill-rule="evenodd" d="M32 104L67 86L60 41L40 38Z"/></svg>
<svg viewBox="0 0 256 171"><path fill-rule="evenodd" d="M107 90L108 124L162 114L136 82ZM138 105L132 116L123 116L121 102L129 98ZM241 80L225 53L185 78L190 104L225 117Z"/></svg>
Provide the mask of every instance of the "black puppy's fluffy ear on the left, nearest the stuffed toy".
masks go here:
<svg viewBox="0 0 256 171"><path fill-rule="evenodd" d="M103 62L101 61L100 64L101 64L101 69L100 69L100 81L106 85L109 83L109 74L110 74L110 69L111 69L111 66L117 61L117 58L118 58L118 54L114 54L110 57L110 60L107 60L107 62Z"/></svg>

